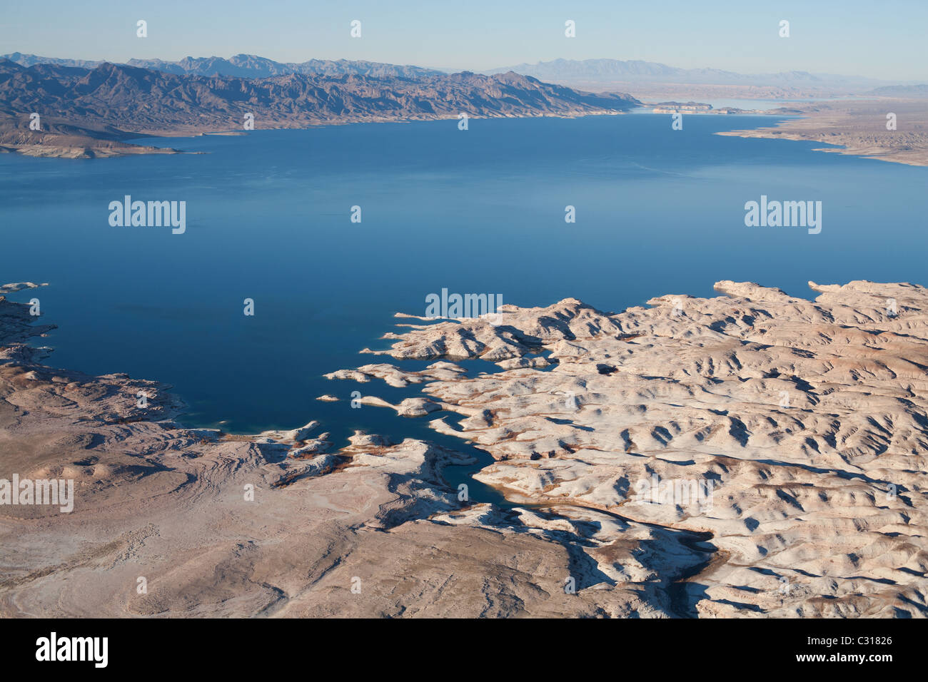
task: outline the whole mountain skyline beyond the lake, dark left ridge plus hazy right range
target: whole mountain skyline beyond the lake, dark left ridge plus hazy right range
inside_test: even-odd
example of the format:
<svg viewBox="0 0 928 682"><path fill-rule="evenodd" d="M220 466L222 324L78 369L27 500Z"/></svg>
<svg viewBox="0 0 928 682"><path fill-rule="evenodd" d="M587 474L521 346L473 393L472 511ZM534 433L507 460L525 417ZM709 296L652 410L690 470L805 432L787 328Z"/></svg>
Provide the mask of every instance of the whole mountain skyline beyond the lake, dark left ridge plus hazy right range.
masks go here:
<svg viewBox="0 0 928 682"><path fill-rule="evenodd" d="M845 92L886 97L925 97L928 90L806 71L752 76L618 59L555 59L477 74L346 59L282 63L254 55L129 64L19 52L6 57L0 58L0 151L45 154L48 148L67 148L56 152L60 156L112 156L122 153L122 140L138 135L242 130L246 113L261 129L434 120L462 111L476 118L579 116L640 105L630 95L564 84L598 91L623 84L641 84L642 90L645 84L770 84L815 93L838 85ZM29 128L32 112L41 114L40 131Z"/></svg>

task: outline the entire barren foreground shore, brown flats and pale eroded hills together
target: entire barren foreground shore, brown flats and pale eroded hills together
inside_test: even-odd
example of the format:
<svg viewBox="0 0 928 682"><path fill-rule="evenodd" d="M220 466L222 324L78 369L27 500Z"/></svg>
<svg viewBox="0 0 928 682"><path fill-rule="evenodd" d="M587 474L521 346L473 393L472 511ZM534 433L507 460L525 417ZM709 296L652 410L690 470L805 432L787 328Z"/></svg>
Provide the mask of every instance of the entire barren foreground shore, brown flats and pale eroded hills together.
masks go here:
<svg viewBox="0 0 928 682"><path fill-rule="evenodd" d="M0 478L77 481L70 514L0 507L0 613L925 616L928 290L810 286L405 323L380 354L430 367L330 375L421 384L397 411L463 416L432 427L514 508L412 439L186 429L160 384L43 365L0 300Z"/></svg>

